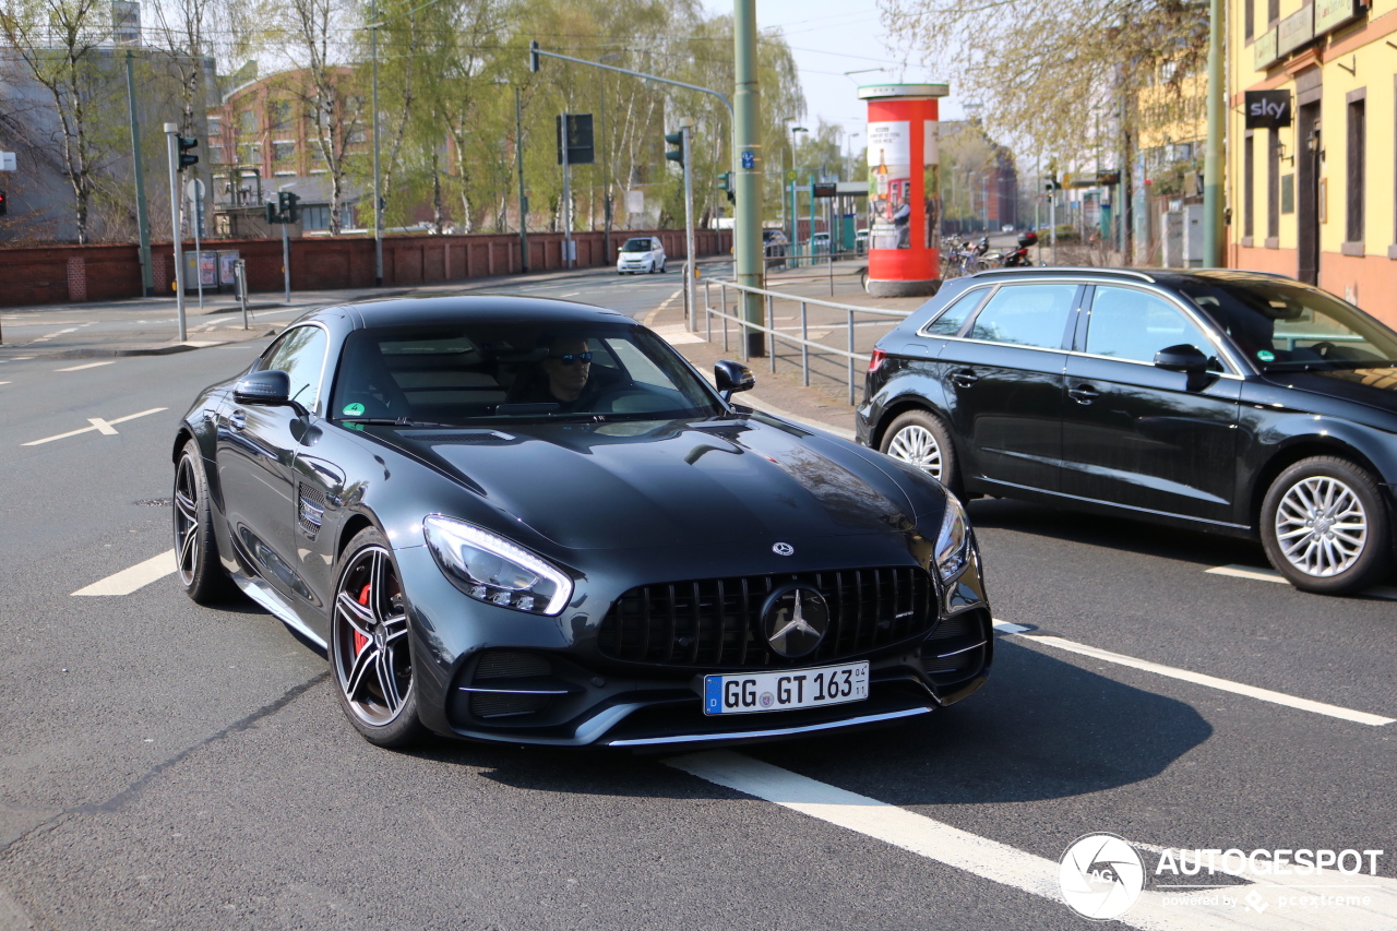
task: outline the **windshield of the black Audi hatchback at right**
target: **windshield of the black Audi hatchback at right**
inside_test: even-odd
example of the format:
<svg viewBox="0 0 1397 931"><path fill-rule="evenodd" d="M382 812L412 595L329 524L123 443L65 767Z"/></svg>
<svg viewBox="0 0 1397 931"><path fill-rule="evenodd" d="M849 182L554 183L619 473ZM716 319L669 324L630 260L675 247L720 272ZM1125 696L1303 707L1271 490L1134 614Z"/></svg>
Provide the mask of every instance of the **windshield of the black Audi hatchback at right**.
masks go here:
<svg viewBox="0 0 1397 931"><path fill-rule="evenodd" d="M1397 361L1397 333L1317 288L1249 280L1189 281L1179 291L1266 372Z"/></svg>

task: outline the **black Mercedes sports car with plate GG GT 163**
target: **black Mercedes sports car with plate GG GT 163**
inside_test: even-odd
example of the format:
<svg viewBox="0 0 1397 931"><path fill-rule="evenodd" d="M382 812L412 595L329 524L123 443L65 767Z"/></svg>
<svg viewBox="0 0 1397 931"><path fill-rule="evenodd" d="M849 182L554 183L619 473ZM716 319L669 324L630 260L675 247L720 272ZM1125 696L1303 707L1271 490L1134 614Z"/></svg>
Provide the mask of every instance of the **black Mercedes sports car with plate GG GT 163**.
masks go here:
<svg viewBox="0 0 1397 931"><path fill-rule="evenodd" d="M954 498L715 375L566 302L316 310L186 414L177 577L326 650L380 745L770 739L979 688Z"/></svg>

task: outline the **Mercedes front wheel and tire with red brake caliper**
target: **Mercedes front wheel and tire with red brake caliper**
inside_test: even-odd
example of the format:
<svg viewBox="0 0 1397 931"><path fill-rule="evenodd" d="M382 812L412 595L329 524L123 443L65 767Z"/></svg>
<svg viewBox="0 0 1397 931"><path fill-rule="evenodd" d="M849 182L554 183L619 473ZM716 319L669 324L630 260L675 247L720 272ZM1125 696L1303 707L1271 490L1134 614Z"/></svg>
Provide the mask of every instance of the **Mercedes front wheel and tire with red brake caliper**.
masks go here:
<svg viewBox="0 0 1397 931"><path fill-rule="evenodd" d="M370 744L408 746L426 728L418 717L407 601L393 549L377 528L349 541L335 579L328 651L339 707Z"/></svg>

